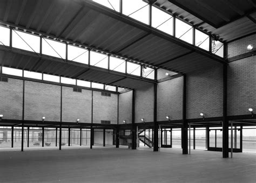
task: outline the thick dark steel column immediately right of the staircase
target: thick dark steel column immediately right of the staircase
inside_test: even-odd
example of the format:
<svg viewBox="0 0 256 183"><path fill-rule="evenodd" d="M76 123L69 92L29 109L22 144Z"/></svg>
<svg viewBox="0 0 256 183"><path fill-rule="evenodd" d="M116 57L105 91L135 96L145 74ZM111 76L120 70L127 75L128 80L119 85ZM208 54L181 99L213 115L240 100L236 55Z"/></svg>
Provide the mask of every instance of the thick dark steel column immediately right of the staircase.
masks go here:
<svg viewBox="0 0 256 183"><path fill-rule="evenodd" d="M155 72L155 77L156 78ZM157 83L154 83L154 148L153 151L158 151L158 123L157 123Z"/></svg>

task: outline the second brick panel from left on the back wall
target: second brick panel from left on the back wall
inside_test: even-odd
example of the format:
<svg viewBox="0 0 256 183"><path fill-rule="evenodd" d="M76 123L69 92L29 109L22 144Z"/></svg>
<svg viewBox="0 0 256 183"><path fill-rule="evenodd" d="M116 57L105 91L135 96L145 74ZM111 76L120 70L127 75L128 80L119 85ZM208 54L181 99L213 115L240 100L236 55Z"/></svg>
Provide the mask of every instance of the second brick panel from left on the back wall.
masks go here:
<svg viewBox="0 0 256 183"><path fill-rule="evenodd" d="M60 86L25 81L25 120L60 121Z"/></svg>

